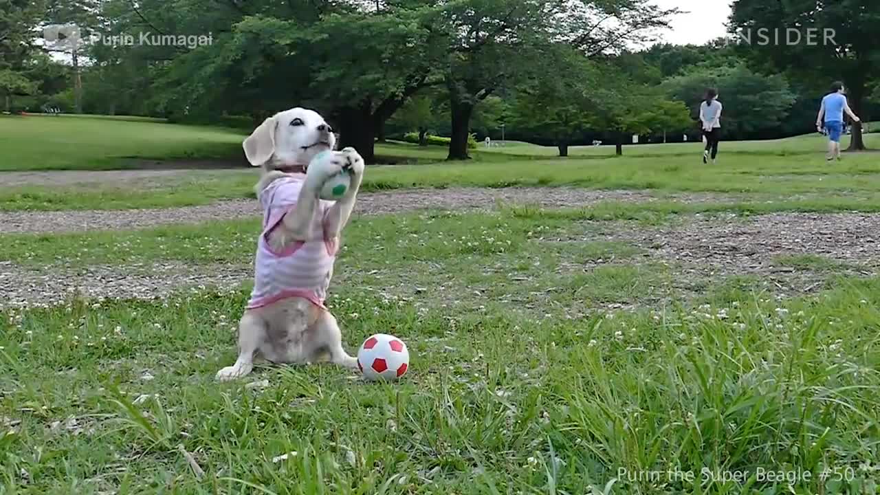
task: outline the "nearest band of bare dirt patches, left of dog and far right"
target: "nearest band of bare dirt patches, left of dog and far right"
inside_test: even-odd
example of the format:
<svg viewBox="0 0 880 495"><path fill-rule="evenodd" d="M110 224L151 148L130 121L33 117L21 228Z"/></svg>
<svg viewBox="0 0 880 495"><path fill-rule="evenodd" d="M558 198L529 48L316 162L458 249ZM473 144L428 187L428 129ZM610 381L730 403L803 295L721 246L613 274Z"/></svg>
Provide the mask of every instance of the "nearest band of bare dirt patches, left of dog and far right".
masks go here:
<svg viewBox="0 0 880 495"><path fill-rule="evenodd" d="M758 275L786 295L815 292L831 273L872 275L880 266L880 214L798 214L759 217L687 218L678 225L644 227L632 222L600 224L600 236L568 239L584 242L620 240L642 247L642 261L668 264L680 293L700 293L708 282L723 277ZM598 239L599 237L599 239ZM823 267L807 263L785 267L779 255L820 255ZM629 262L629 260L627 260ZM638 259L632 262L640 262ZM590 270L595 263L563 263L565 270ZM162 262L155 265L96 266L78 270L54 268L52 276L10 262L0 262L0 307L52 303L72 293L92 297L153 298L170 292L212 286L232 288L252 277L250 260L240 265L198 265ZM342 283L344 273L336 283Z"/></svg>

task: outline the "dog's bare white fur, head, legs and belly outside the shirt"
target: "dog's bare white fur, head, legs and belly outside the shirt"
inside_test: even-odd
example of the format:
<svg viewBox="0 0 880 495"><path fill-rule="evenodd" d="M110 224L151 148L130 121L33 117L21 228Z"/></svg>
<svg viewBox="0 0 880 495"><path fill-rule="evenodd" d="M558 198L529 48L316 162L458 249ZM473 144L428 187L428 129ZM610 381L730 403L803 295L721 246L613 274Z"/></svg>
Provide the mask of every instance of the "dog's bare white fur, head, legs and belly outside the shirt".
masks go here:
<svg viewBox="0 0 880 495"><path fill-rule="evenodd" d="M341 170L351 174L348 193L326 212L324 228L327 240L339 236L351 211L363 179L363 159L354 148L334 151L333 129L317 112L290 108L266 119L242 144L252 166L262 166L257 192L282 177L302 178L303 187L297 206L284 216L268 235L269 246L283 250L298 240L307 240L313 213L319 206L319 191L326 180ZM279 168L307 167L320 151L334 153L330 166L322 174L286 174ZM327 274L332 277L333 272ZM238 359L216 373L217 380L232 380L251 373L255 358L273 363L307 364L322 360L327 354L334 364L357 367L357 360L342 348L341 330L333 314L303 298L288 298L268 306L247 309L238 323Z"/></svg>

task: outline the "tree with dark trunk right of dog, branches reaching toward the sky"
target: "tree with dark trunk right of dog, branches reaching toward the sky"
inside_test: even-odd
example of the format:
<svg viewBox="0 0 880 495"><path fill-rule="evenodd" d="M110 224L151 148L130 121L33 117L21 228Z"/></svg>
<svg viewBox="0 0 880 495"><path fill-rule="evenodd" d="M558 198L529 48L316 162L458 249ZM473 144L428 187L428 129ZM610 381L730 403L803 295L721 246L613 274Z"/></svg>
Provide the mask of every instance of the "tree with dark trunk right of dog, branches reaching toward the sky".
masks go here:
<svg viewBox="0 0 880 495"><path fill-rule="evenodd" d="M449 35L446 85L452 132L449 159L467 159L473 108L489 94L524 78L555 77L542 62L546 49L564 43L584 55L619 52L627 43L652 40L678 10L648 0L458 0L436 25Z"/></svg>

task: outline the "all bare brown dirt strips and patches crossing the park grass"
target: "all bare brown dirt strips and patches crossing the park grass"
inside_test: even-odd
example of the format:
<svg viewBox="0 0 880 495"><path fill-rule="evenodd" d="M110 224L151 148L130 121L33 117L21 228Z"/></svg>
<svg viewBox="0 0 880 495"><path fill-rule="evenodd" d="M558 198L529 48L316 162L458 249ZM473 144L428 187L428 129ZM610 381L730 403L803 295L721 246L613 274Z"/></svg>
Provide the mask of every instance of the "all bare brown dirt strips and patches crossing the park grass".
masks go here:
<svg viewBox="0 0 880 495"><path fill-rule="evenodd" d="M216 164L209 164L209 168ZM232 173L235 168L229 168ZM28 172L0 174L4 186L161 183L187 169L153 167L105 172ZM215 172L225 174L226 170ZM593 191L583 188L446 188L408 189L358 196L356 212L364 215L440 209L488 211L498 203L533 204L546 208L589 206L604 201L644 203L659 198L683 203L737 201L735 196L678 194L657 196L649 191ZM200 223L209 220L253 218L260 215L255 200L231 200L202 206L126 211L0 211L2 233L64 233L145 228ZM668 266L671 289L694 292L700 284L725 277L755 276L784 295L817 290L829 274L874 274L880 260L880 215L772 214L756 217L693 217L667 225L598 222L602 240L639 247L643 255L627 260ZM593 231L595 232L595 231ZM572 239L578 241L578 239ZM595 237L584 242L597 240ZM810 255L800 262L781 256ZM598 264L613 262L608 261ZM577 259L561 270L590 270L597 263ZM74 293L92 297L160 297L169 292L215 286L232 288L252 276L250 260L236 265L189 266L166 262L145 266L63 266L27 268L0 262L0 292L6 305L46 304ZM51 273L49 275L48 273ZM341 275L341 278L344 278ZM696 291L699 292L699 291Z"/></svg>

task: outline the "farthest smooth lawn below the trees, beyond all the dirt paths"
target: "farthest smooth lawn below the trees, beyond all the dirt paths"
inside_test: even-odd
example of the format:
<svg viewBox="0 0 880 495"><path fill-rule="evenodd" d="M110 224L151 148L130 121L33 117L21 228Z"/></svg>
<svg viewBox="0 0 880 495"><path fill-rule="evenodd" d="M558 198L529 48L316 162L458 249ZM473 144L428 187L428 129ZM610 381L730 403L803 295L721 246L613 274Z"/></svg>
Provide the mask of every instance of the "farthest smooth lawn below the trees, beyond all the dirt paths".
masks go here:
<svg viewBox="0 0 880 495"><path fill-rule="evenodd" d="M224 161L246 166L241 129L181 125L132 116L26 115L0 116L0 171L106 170L143 166L152 161ZM877 146L880 135L866 135L866 144ZM847 137L844 138L846 145ZM787 156L821 152L824 138L818 135L781 140L744 141L722 144L722 156L729 153ZM632 157L688 156L699 148L689 144L627 145L624 155ZM613 156L613 146L573 146L572 158ZM506 142L490 149L473 150L479 161L505 161L505 155L523 158L553 157L553 146ZM444 146L419 147L388 142L377 144L380 163L414 164L446 158ZM228 165L227 165L228 166Z"/></svg>

